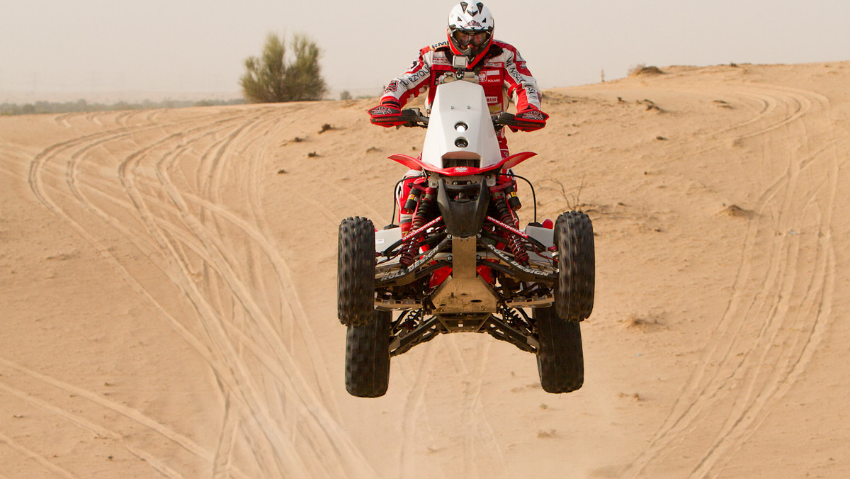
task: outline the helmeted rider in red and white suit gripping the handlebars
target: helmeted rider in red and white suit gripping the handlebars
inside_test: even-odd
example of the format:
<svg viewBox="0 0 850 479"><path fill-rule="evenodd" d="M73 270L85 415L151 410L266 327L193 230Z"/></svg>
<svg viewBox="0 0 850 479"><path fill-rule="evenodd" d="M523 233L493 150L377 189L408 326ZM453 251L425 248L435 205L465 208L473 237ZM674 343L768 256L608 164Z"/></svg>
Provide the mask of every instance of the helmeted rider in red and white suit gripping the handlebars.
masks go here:
<svg viewBox="0 0 850 479"><path fill-rule="evenodd" d="M473 71L484 88L490 114L507 111L510 98L517 105L513 131L534 131L546 126L549 117L541 111L541 93L537 82L525 66L525 60L513 46L495 40L493 16L484 3L458 3L449 13L449 26L445 42L436 43L419 51L419 58L408 71L394 78L384 89L380 105L369 110L371 123L382 127L405 124L401 108L411 99L428 89L426 111L430 111L437 84L442 77L458 69ZM496 132L501 156L507 157L507 139L503 128ZM403 188L397 200L407 196L411 183L420 172L405 174ZM511 179L513 181L513 179ZM405 214L400 215L405 229Z"/></svg>

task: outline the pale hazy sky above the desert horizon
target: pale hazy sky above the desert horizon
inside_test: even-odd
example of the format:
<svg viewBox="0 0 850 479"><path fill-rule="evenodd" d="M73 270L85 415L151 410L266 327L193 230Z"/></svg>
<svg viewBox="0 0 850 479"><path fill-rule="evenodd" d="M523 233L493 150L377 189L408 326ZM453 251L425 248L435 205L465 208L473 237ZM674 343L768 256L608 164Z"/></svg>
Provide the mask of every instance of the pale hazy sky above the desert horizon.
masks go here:
<svg viewBox="0 0 850 479"><path fill-rule="evenodd" d="M0 103L9 92L228 92L269 33L306 33L331 94L379 94L445 40L456 2L0 0ZM850 60L847 0L490 0L496 38L541 88L632 66ZM6 95L5 97L3 95Z"/></svg>

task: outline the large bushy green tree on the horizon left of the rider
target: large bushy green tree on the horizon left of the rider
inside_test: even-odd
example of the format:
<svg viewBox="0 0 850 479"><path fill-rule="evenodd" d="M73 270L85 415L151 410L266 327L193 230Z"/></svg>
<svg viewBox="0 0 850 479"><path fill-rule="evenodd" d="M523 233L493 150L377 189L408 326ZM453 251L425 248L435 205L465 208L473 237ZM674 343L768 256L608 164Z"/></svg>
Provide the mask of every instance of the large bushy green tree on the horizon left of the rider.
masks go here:
<svg viewBox="0 0 850 479"><path fill-rule="evenodd" d="M251 103L321 100L327 91L319 66L320 48L304 34L292 36L295 60L286 62L282 37L269 33L260 58L245 60L239 80L242 94Z"/></svg>

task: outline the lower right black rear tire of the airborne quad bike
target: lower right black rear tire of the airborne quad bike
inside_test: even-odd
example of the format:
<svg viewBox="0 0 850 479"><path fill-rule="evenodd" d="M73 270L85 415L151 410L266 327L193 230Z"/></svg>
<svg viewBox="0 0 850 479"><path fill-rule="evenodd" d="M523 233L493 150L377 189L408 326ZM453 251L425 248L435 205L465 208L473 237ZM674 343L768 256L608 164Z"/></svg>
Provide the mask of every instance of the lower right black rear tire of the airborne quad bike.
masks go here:
<svg viewBox="0 0 850 479"><path fill-rule="evenodd" d="M537 325L537 372L543 391L575 391L584 384L584 353L581 350L581 323L564 321L555 308L535 308Z"/></svg>

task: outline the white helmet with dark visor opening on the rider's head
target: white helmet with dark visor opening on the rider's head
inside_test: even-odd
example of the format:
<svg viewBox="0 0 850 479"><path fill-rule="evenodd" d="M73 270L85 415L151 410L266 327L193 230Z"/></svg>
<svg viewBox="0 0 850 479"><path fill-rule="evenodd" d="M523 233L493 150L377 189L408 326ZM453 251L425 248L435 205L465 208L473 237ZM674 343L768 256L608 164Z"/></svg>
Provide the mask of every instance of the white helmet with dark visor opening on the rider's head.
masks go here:
<svg viewBox="0 0 850 479"><path fill-rule="evenodd" d="M484 3L461 2L449 13L449 37L451 53L464 55L473 66L493 43L493 15Z"/></svg>

